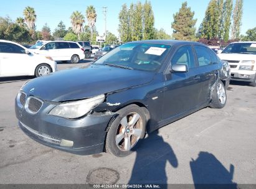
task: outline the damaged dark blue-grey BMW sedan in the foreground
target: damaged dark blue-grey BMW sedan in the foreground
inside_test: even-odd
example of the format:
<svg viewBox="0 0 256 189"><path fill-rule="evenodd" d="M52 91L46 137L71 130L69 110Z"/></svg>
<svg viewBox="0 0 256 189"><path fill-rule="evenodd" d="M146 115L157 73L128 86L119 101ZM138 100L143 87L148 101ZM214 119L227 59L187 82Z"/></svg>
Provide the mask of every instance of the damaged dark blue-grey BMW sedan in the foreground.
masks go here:
<svg viewBox="0 0 256 189"><path fill-rule="evenodd" d="M145 132L206 106L223 108L229 71L203 44L130 42L87 67L29 81L16 116L22 131L55 149L123 157Z"/></svg>

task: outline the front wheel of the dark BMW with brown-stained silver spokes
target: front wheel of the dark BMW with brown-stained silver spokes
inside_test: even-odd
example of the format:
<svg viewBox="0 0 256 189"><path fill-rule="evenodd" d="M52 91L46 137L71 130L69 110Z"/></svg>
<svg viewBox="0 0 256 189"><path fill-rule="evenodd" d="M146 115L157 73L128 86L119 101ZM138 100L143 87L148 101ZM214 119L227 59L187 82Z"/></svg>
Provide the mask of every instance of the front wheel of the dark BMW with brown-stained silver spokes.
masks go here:
<svg viewBox="0 0 256 189"><path fill-rule="evenodd" d="M107 132L105 149L116 157L125 157L131 154L145 137L146 116L135 104L120 109L118 114Z"/></svg>

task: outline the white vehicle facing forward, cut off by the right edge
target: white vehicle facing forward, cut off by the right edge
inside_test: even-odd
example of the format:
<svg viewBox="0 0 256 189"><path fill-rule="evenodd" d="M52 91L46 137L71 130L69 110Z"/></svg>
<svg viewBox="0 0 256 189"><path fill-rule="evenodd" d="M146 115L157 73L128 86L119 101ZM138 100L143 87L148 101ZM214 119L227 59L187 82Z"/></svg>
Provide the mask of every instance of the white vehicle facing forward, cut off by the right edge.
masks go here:
<svg viewBox="0 0 256 189"><path fill-rule="evenodd" d="M231 80L247 81L256 86L256 42L234 42L218 54L229 62Z"/></svg>

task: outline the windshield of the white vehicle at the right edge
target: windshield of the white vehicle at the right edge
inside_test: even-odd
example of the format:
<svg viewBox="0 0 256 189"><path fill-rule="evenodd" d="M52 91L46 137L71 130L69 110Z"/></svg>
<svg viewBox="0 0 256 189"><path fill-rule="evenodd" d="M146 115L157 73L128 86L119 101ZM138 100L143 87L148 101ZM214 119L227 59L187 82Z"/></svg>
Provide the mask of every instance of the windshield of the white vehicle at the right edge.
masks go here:
<svg viewBox="0 0 256 189"><path fill-rule="evenodd" d="M256 54L256 44L254 43L229 44L222 51L222 53Z"/></svg>

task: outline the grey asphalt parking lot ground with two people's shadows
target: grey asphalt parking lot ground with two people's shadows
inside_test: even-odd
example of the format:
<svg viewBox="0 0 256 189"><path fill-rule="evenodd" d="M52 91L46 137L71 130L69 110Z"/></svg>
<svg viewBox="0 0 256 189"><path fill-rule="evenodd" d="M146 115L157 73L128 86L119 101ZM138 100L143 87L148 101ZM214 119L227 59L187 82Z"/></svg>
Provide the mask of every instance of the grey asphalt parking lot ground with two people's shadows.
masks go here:
<svg viewBox="0 0 256 189"><path fill-rule="evenodd" d="M68 154L27 137L17 127L14 98L29 79L0 81L0 183L256 184L256 88L230 83L225 108L204 108L162 127L138 151L117 158Z"/></svg>

